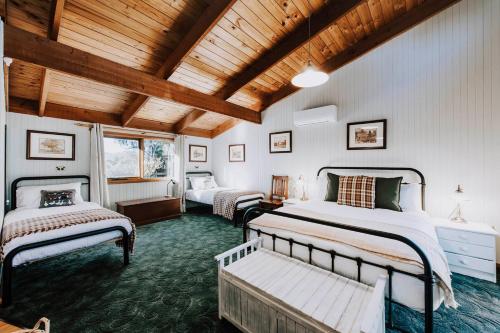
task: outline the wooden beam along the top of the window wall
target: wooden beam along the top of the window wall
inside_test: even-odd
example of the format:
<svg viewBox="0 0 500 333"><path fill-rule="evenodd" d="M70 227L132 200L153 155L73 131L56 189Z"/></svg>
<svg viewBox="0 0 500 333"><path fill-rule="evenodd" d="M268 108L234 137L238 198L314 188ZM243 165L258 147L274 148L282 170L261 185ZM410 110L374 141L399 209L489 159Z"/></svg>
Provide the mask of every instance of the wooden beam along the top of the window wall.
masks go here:
<svg viewBox="0 0 500 333"><path fill-rule="evenodd" d="M38 114L37 101L10 96L9 102L9 112L23 113L32 116L36 116ZM121 126L121 117L119 114L87 110L54 103L47 103L45 107L45 116L89 123L97 122L104 125ZM134 120L132 120L127 127L171 133L173 124L134 118Z"/></svg>

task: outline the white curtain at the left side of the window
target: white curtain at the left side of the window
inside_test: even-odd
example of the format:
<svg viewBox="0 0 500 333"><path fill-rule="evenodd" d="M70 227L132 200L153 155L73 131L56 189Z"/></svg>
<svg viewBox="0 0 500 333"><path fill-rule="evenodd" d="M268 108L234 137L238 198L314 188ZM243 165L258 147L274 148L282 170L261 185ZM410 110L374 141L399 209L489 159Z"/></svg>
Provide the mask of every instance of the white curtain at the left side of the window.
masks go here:
<svg viewBox="0 0 500 333"><path fill-rule="evenodd" d="M104 157L104 130L94 124L90 134L90 201L109 208L109 191Z"/></svg>

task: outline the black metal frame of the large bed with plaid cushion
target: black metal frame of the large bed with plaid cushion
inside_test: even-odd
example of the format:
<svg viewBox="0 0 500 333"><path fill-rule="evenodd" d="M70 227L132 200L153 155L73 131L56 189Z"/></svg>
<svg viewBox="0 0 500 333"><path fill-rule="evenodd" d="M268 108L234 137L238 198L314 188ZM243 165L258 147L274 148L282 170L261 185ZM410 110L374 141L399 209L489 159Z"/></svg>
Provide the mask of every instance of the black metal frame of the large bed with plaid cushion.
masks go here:
<svg viewBox="0 0 500 333"><path fill-rule="evenodd" d="M383 168L377 168L377 167L323 167L318 171L318 176L323 170L326 169L354 169L354 170L361 170L361 169L368 169L368 170L393 170L393 171L411 171L415 172L419 177L420 177L420 184L422 185L422 189L425 187L425 179L423 174L413 168L389 168L389 167L383 167ZM424 196L423 196L423 190L422 190L422 207L424 207ZM406 272L400 269L397 269L393 266L387 265L380 265L371 261L367 261L362 259L361 257L352 257L348 256L342 253L338 253L334 250L326 250L317 246L314 246L313 244L310 243L304 243L300 241L296 241L293 238L286 238L286 237L281 237L278 236L275 233L268 233L265 231L262 231L261 229L255 229L251 228L248 226L248 222L257 216L260 216L262 214L271 214L271 215L277 215L277 216L282 216L282 217L287 217L287 218L292 218L296 220L301 220L305 222L310 222L310 223L315 223L315 224L320 224L324 226L329 226L329 227L334 227L338 229L344 229L344 230L349 230L349 231L354 231L354 232L359 232L363 234L368 234L372 236L377 236L377 237L382 237L382 238L387 238L387 239L392 239L399 241L401 243L404 243L411 247L420 257L422 260L422 264L424 266L424 271L422 274L415 274L411 272ZM393 233L389 232L384 232L384 231L378 231L378 230L372 230L372 229L367 229L367 228L361 228L361 227L355 227L355 226L350 226L350 225L345 225L341 223L335 223L335 222L329 222L329 221L324 221L320 219L314 219L314 218L309 218L305 216L300 216L300 215L295 215L295 214L288 214L288 213L283 213L283 212L278 212L278 211L273 211L273 210L267 210L267 209L262 209L262 208L250 208L245 212L245 215L243 217L243 243L247 241L248 235L247 233L250 231L254 231L257 233L257 235L260 237L261 235L269 236L272 238L273 241L273 251L276 251L276 240L282 240L286 241L289 244L289 256L293 257L293 245L297 244L299 246L303 246L308 248L309 250L309 264L312 264L312 253L313 251L319 251L323 252L326 254L329 254L331 257L331 271L335 272L335 258L336 257L341 257L344 259L352 260L356 263L357 265L357 280L361 281L361 266L363 264L371 265L374 267L378 267L381 269L387 270L387 275L388 275L388 302L389 302L389 311L388 311L388 322L387 326L392 328L393 326L393 301L392 299L392 277L394 273L399 273L399 274L404 274L408 275L414 278L417 278L421 281L424 282L424 318L425 318L425 332L426 333L432 333L433 331L433 286L435 284L435 278L434 278L434 272L431 267L431 263L425 253L416 245L412 240Z"/></svg>

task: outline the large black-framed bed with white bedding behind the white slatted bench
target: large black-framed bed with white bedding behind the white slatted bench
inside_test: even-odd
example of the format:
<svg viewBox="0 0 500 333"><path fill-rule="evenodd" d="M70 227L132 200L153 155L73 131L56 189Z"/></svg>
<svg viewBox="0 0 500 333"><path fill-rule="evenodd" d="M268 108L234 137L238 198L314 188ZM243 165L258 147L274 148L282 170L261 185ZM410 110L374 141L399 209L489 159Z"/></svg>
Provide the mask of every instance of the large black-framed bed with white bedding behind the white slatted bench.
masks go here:
<svg viewBox="0 0 500 333"><path fill-rule="evenodd" d="M244 218L244 240L262 237L265 248L367 284L374 284L380 274L388 275L390 306L397 302L424 312L426 331L432 331L432 311L443 301L446 306L457 304L446 257L424 211L423 175L411 168L325 167L318 179L332 169L354 169L359 174L380 170L414 173L417 181L405 182L405 191L406 187L418 188L418 196L401 197L413 201L405 203L413 209L366 209L321 199L275 211L252 209ZM414 209L417 205L419 209Z"/></svg>

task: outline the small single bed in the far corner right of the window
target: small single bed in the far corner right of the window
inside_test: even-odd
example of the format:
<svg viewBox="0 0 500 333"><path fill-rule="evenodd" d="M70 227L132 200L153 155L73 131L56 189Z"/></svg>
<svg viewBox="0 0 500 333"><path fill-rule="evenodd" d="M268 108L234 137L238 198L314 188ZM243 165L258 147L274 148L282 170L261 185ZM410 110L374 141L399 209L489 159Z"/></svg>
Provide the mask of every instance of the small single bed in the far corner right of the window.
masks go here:
<svg viewBox="0 0 500 333"><path fill-rule="evenodd" d="M209 186L196 188L193 181L206 179ZM186 206L205 206L212 212L232 220L234 225L238 224L238 217L249 207L256 206L264 199L264 193L260 191L246 191L230 187L221 187L215 183L210 171L186 172Z"/></svg>

